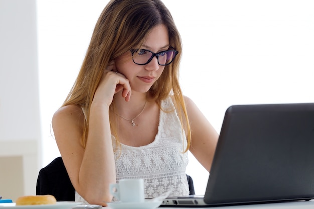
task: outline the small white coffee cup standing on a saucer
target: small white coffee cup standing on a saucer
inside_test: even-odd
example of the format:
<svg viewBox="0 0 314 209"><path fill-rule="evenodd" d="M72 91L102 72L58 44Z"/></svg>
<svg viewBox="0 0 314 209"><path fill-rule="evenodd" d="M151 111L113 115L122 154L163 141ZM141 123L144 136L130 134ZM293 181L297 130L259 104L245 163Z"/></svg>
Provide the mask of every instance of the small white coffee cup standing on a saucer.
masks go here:
<svg viewBox="0 0 314 209"><path fill-rule="evenodd" d="M144 202L143 179L121 179L119 183L110 184L110 193L120 202Z"/></svg>

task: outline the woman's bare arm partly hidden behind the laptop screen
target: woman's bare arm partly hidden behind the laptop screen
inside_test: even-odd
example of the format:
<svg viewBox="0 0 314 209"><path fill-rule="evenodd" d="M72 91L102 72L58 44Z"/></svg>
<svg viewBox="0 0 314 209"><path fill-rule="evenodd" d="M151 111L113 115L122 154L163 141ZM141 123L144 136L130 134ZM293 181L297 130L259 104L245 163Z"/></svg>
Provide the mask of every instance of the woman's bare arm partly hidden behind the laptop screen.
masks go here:
<svg viewBox="0 0 314 209"><path fill-rule="evenodd" d="M185 97L185 103L192 134L189 150L209 172L218 141L218 133L190 98Z"/></svg>

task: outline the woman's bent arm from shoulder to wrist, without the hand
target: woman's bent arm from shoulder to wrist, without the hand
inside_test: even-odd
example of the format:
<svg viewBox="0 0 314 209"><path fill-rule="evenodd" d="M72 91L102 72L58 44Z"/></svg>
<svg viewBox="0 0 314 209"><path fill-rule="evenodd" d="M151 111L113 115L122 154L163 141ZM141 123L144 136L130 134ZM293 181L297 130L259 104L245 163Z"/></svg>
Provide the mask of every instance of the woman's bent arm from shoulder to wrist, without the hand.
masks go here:
<svg viewBox="0 0 314 209"><path fill-rule="evenodd" d="M116 178L111 134L106 128L110 128L106 124L109 119L99 109L91 108L86 149L81 145L84 115L80 107L60 108L53 116L52 125L75 190L89 203L105 205L112 198L109 184Z"/></svg>

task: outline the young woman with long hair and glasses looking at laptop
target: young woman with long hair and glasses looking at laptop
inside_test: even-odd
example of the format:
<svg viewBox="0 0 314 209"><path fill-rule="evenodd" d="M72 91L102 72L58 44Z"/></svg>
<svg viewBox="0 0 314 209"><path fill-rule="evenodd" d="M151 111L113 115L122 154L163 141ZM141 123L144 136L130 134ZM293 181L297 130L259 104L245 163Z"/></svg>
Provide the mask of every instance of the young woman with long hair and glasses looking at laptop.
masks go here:
<svg viewBox="0 0 314 209"><path fill-rule="evenodd" d="M178 82L181 40L159 0L113 0L52 126L76 201L143 178L146 197L188 195L188 153L210 171L218 134Z"/></svg>

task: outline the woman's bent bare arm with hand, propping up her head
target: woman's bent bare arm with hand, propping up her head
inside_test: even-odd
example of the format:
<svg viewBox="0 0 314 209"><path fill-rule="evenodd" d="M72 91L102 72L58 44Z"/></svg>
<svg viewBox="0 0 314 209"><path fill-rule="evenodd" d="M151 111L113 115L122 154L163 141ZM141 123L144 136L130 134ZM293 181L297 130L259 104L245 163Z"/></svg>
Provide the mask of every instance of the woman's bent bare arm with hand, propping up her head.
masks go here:
<svg viewBox="0 0 314 209"><path fill-rule="evenodd" d="M90 107L86 148L81 141L85 116L81 107L61 107L53 116L52 127L65 167L75 190L90 204L111 201L109 184L115 183L115 161L109 122L109 106L122 90L129 100L128 80L105 70Z"/></svg>

